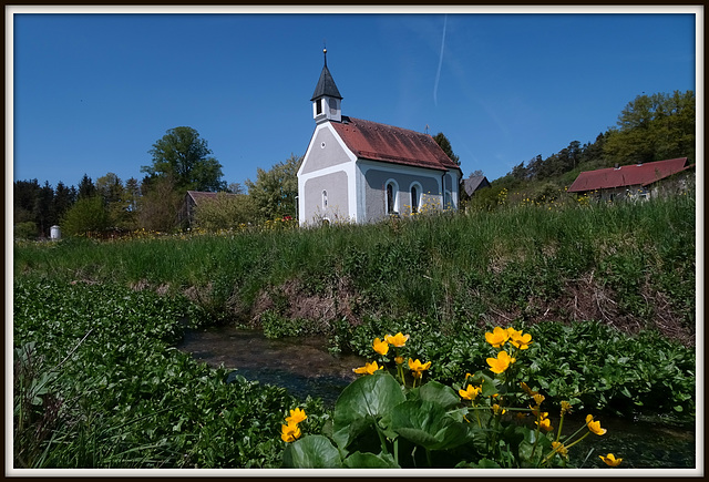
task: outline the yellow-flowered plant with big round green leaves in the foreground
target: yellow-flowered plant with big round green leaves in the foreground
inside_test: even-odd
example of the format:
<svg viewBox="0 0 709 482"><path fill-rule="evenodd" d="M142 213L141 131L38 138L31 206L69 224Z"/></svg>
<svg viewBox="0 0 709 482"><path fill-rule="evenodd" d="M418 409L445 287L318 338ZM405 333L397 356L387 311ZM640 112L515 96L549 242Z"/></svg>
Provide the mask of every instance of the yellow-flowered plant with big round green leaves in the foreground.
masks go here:
<svg viewBox="0 0 709 482"><path fill-rule="evenodd" d="M281 430L284 466L565 468L572 447L589 434L606 433L588 414L585 424L564 437L571 403L562 402L556 429L543 411L546 397L525 382L512 382L517 358L534 342L530 334L495 327L485 339L496 350L496 357L487 358L490 369L466 373L455 390L438 381L423 383L431 362L411 356L407 377L409 335L376 338L372 350L379 360L353 369L361 377L340 394L329 429L301 437L298 423L305 413L291 410ZM393 358L388 357L390 346ZM534 424L525 423L527 418ZM612 453L600 459L609 466L623 460Z"/></svg>

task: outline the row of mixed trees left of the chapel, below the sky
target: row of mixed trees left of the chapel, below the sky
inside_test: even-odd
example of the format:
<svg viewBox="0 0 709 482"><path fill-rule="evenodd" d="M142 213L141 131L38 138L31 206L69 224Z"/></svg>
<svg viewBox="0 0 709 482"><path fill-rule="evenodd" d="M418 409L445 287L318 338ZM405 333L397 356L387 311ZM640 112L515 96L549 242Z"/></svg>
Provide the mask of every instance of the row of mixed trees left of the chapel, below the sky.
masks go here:
<svg viewBox="0 0 709 482"><path fill-rule="evenodd" d="M136 229L171 232L196 223L204 227L233 227L296 216L296 173L302 160L291 155L271 170L258 168L256 181L227 185L222 164L206 140L192 127L171 129L148 151L151 163L144 177L125 182L107 173L95 182L86 174L76 186L59 182L40 185L38 180L16 181L13 186L14 236L49 237L54 225L68 235L121 233ZM197 206L194 219L186 217L187 191L217 192L219 203ZM226 201L225 201L226 199ZM228 225L228 226L227 226Z"/></svg>

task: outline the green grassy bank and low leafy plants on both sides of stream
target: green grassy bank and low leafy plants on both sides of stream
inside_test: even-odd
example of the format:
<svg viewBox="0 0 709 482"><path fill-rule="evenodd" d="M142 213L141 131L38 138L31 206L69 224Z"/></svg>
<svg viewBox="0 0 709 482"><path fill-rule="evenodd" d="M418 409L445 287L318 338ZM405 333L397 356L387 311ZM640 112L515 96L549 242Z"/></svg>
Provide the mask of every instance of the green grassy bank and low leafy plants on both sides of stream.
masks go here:
<svg viewBox="0 0 709 482"><path fill-rule="evenodd" d="M455 389L486 367L484 334L514 326L534 340L514 380L549 412L692 419L695 235L693 197L676 196L16 243L16 466L280 466L288 410L327 432L336 413L321 401L226 383L174 348L186 327L217 322L363 357L408 334L427 379Z"/></svg>

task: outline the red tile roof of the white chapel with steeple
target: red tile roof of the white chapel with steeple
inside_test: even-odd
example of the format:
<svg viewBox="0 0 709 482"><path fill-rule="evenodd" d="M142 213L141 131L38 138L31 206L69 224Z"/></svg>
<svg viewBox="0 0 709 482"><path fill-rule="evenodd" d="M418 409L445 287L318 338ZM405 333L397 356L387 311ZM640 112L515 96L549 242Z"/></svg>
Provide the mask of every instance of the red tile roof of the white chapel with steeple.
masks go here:
<svg viewBox="0 0 709 482"><path fill-rule="evenodd" d="M429 134L345 115L341 123L332 122L331 125L358 157L438 171L460 171Z"/></svg>

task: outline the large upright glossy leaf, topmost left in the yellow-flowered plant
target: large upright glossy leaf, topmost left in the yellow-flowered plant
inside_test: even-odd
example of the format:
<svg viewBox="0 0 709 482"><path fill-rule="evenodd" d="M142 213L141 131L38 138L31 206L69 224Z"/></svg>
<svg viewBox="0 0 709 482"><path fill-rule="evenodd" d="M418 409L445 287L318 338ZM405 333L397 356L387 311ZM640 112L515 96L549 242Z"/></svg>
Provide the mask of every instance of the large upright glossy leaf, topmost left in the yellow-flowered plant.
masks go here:
<svg viewBox="0 0 709 482"><path fill-rule="evenodd" d="M387 372L354 380L335 403L333 439L347 448L354 438L404 401L399 382Z"/></svg>

